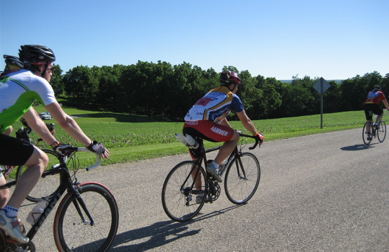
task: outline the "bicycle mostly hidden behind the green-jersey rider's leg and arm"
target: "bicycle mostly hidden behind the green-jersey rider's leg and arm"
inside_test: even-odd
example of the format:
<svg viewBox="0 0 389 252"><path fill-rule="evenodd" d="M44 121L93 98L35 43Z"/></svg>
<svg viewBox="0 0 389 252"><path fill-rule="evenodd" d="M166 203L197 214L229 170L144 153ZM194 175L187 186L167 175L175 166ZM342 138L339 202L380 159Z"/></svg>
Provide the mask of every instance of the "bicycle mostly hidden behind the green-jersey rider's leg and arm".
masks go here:
<svg viewBox="0 0 389 252"><path fill-rule="evenodd" d="M51 124L52 129L54 124ZM20 129L17 131L16 136L18 139L24 140L26 142L31 143L30 135L33 132L32 128L29 126L26 127L20 127ZM38 142L42 141L41 139L37 140ZM44 153L47 154L49 157L49 163L47 165L46 169L51 169L51 167L58 163L58 155L59 153L54 151L53 149L41 149ZM66 160L66 156L64 157ZM0 167L2 168L2 172L4 177L7 177L15 168L16 166L5 166ZM16 170L15 177L18 179L21 174L27 169L26 166L18 166L18 169ZM56 185L58 186L60 183L60 174L53 174L51 176L44 176L41 177L34 187L34 189L29 193L27 196L27 200L31 202L38 202L40 198L46 196L48 199L51 199L51 197L54 194L54 189L51 189L51 187L48 187L48 185Z"/></svg>

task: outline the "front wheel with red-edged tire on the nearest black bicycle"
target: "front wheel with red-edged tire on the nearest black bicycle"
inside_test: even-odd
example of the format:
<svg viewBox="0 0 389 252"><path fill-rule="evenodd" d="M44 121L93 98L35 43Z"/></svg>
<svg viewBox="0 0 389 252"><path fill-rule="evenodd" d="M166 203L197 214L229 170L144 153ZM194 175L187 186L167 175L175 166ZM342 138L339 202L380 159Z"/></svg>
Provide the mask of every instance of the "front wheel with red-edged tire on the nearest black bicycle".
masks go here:
<svg viewBox="0 0 389 252"><path fill-rule="evenodd" d="M76 196L68 192L54 217L54 240L58 251L106 252L116 236L119 210L113 194L104 185L88 182L79 186L79 193L92 216L94 225L82 221L75 205ZM82 209L81 209L82 210ZM82 215L88 220L87 214Z"/></svg>

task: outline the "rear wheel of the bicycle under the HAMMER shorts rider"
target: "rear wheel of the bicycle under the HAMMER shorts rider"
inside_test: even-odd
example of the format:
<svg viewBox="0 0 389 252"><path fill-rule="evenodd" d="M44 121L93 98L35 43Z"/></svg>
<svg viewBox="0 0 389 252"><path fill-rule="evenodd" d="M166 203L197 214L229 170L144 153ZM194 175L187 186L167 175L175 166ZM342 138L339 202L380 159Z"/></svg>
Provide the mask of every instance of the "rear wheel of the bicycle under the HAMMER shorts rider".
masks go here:
<svg viewBox="0 0 389 252"><path fill-rule="evenodd" d="M203 207L207 191L208 180L204 168L200 169L199 179L201 188L194 188L194 178L191 175L196 172L194 161L183 161L177 164L167 175L162 187L162 206L166 215L173 221L188 221ZM198 177L197 177L198 178ZM197 179L196 178L196 179ZM200 204L196 204L196 196L202 196Z"/></svg>

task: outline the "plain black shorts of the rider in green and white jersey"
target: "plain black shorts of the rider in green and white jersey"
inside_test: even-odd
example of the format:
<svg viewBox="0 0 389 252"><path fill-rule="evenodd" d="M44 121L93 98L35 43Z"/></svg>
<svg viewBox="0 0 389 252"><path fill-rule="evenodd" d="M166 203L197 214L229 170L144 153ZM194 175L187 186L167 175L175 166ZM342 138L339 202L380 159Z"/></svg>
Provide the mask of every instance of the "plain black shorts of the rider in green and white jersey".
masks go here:
<svg viewBox="0 0 389 252"><path fill-rule="evenodd" d="M24 165L34 149L31 143L0 134L0 165Z"/></svg>

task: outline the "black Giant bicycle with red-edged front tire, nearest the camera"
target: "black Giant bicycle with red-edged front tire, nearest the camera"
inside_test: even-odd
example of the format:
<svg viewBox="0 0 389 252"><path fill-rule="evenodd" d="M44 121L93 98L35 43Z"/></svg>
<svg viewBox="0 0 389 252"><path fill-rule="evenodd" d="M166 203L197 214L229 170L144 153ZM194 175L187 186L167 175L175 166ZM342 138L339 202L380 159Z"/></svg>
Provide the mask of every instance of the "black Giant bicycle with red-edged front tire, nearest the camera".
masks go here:
<svg viewBox="0 0 389 252"><path fill-rule="evenodd" d="M78 182L76 173L79 170L77 165L79 162L75 153L90 152L88 148L65 145L59 149L61 153L58 153L57 163L44 171L42 177L59 173L61 182L43 213L27 233L30 241L26 244L17 243L0 230L0 251L35 252L32 240L63 194L65 196L55 213L53 225L54 241L58 251L106 252L111 246L119 225L119 210L115 197L100 183ZM68 163L72 160L72 174L65 157L68 157ZM100 158L96 155L96 163L88 167L87 171L99 166ZM0 189L13 187L16 182L17 180L8 182Z"/></svg>

